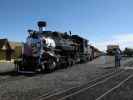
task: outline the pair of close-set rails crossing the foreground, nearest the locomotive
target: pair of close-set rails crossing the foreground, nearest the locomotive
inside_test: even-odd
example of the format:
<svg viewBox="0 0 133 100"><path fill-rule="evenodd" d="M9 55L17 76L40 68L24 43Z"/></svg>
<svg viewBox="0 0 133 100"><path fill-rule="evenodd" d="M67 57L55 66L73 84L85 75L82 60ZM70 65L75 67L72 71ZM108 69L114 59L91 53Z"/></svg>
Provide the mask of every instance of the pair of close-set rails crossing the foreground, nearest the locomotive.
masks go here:
<svg viewBox="0 0 133 100"><path fill-rule="evenodd" d="M69 89L66 89L63 91L48 92L42 96L35 98L35 100L66 100L67 98L69 98L73 95L76 95L78 92L85 90L86 88L92 88L95 85L97 85L98 83L103 82L104 80L109 80L113 77L116 77L119 74L121 75L124 72L125 72L125 70L121 70L121 69L114 70L113 72L103 75L101 77L98 77L98 78L88 82L87 84L72 87L72 88L69 88ZM76 99L71 99L71 100L76 100Z"/></svg>

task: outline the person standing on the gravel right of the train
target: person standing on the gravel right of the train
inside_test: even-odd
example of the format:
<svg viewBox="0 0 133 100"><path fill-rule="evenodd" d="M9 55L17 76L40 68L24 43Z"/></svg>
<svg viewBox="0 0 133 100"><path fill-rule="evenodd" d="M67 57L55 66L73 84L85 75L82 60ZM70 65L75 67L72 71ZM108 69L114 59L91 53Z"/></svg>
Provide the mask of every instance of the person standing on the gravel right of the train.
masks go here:
<svg viewBox="0 0 133 100"><path fill-rule="evenodd" d="M121 66L121 50L119 48L115 49L115 67Z"/></svg>

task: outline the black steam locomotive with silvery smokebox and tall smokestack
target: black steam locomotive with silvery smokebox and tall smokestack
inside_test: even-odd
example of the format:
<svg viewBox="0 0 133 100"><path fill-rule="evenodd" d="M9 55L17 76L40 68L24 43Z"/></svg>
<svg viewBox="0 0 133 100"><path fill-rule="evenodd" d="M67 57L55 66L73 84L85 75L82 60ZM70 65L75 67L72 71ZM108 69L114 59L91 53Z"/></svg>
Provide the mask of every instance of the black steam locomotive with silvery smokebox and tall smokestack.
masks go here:
<svg viewBox="0 0 133 100"><path fill-rule="evenodd" d="M44 31L46 22L39 21L39 31L28 30L17 72L52 71L89 60L88 40L67 32Z"/></svg>

